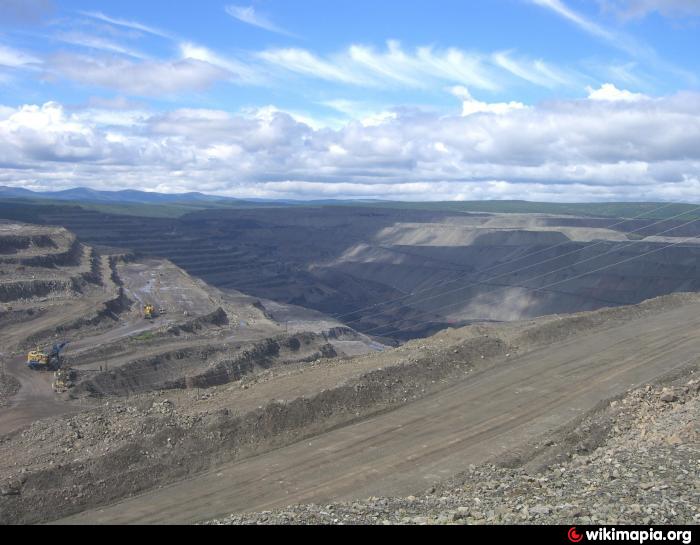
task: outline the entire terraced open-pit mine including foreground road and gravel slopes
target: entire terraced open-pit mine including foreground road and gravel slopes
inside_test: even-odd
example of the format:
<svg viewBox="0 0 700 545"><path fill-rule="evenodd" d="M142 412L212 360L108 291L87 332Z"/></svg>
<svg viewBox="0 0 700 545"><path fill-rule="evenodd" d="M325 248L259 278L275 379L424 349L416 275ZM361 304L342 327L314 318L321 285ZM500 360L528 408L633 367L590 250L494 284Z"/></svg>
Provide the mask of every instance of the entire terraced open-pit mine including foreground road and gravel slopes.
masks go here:
<svg viewBox="0 0 700 545"><path fill-rule="evenodd" d="M0 523L700 522L692 217L135 214L0 202Z"/></svg>

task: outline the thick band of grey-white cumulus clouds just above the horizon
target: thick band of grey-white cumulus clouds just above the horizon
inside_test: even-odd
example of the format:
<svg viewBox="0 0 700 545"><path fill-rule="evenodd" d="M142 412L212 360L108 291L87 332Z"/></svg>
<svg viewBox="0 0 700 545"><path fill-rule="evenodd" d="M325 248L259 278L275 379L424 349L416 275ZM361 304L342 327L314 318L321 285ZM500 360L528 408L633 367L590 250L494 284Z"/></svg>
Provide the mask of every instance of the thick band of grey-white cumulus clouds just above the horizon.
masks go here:
<svg viewBox="0 0 700 545"><path fill-rule="evenodd" d="M0 108L0 183L234 196L700 201L700 95L550 102L313 127L231 113Z"/></svg>

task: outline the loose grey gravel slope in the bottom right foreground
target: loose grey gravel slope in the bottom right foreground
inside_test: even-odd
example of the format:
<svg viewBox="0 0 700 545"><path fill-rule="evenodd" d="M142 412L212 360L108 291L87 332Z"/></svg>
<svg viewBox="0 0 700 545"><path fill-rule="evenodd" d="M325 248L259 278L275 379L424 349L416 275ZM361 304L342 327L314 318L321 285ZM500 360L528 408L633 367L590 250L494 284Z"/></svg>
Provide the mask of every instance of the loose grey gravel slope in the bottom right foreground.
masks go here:
<svg viewBox="0 0 700 545"><path fill-rule="evenodd" d="M635 390L561 436L569 452L544 468L470 467L421 495L293 506L209 524L698 524L699 392L700 380L688 377ZM599 444L591 449L591 442Z"/></svg>

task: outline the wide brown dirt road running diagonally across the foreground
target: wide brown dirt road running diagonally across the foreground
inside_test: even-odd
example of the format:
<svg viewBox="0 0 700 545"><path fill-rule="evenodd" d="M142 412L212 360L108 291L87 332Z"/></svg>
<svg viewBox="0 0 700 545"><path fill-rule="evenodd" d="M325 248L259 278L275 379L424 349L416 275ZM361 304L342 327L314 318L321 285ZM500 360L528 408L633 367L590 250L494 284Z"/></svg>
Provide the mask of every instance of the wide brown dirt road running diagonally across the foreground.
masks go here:
<svg viewBox="0 0 700 545"><path fill-rule="evenodd" d="M694 362L700 304L611 323L419 401L86 511L65 523L189 523L295 503L408 495Z"/></svg>

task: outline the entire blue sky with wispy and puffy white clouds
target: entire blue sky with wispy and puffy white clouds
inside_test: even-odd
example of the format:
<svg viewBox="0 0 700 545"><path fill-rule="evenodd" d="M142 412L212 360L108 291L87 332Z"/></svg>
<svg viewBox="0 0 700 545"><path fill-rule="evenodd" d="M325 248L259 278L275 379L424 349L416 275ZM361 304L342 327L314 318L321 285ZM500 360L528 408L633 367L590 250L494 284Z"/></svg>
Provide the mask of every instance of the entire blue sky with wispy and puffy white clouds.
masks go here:
<svg viewBox="0 0 700 545"><path fill-rule="evenodd" d="M0 0L0 185L700 202L700 0Z"/></svg>

